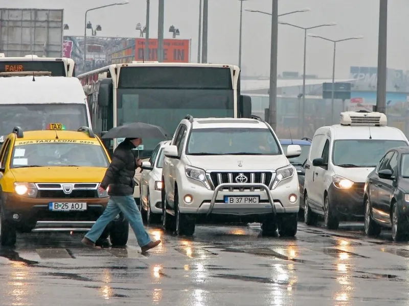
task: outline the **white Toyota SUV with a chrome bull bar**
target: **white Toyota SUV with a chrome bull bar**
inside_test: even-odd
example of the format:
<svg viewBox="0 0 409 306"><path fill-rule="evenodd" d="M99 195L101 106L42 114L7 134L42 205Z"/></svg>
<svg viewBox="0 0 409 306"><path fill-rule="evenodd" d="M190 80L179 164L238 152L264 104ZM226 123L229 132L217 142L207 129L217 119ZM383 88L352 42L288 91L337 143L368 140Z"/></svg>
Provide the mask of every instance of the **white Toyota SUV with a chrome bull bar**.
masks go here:
<svg viewBox="0 0 409 306"><path fill-rule="evenodd" d="M163 225L193 235L197 219L260 222L263 235L297 233L299 186L287 154L260 118L181 120L164 148ZM294 175L295 174L295 175ZM238 220L239 219L239 220Z"/></svg>

